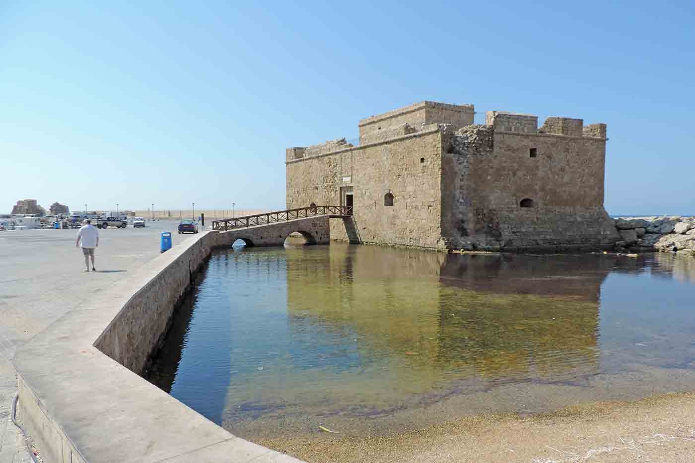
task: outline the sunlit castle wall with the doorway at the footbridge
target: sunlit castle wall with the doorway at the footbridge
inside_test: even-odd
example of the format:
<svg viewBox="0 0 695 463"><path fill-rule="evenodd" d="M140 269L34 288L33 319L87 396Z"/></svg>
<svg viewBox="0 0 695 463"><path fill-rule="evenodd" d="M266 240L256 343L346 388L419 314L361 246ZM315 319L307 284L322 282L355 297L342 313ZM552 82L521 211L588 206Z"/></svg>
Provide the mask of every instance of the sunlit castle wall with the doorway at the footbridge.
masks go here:
<svg viewBox="0 0 695 463"><path fill-rule="evenodd" d="M352 188L352 220L331 220L332 239L443 248L440 229L441 132L425 127L383 143L287 162L288 209L344 204ZM393 206L384 198L393 195Z"/></svg>

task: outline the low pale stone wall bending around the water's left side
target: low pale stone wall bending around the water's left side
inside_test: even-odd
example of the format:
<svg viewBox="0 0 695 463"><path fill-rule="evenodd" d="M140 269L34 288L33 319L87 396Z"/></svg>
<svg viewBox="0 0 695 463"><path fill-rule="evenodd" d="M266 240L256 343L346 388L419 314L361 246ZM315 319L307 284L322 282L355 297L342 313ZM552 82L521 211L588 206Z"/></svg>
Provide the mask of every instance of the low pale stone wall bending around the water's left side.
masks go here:
<svg viewBox="0 0 695 463"><path fill-rule="evenodd" d="M218 232L193 236L17 350L20 414L45 462L299 461L230 434L133 373L213 247L229 244Z"/></svg>

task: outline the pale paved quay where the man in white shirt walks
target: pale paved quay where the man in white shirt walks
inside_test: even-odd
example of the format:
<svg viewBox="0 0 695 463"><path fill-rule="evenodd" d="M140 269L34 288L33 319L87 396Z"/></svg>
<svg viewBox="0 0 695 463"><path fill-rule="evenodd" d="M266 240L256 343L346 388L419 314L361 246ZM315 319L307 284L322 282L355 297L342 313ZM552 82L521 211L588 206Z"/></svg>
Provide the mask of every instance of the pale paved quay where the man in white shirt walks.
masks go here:
<svg viewBox="0 0 695 463"><path fill-rule="evenodd" d="M181 243L184 236L177 234L177 223L100 229L97 273L83 271L76 230L0 232L0 463L28 461L21 433L10 420L17 393L11 359L17 346L158 256L160 232L172 232L173 245Z"/></svg>

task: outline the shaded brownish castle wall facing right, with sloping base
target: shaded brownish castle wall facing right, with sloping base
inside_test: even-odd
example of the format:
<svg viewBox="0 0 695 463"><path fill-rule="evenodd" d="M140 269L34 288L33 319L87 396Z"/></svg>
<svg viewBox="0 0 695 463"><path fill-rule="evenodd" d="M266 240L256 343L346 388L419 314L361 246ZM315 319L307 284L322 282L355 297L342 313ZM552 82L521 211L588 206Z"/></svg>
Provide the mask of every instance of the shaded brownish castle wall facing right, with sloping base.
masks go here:
<svg viewBox="0 0 695 463"><path fill-rule="evenodd" d="M501 121L489 115L490 126L448 136L442 170L448 246L610 247L616 232L603 209L605 138L583 138L581 120L554 129L579 136L555 136L537 133L535 116L502 114ZM532 206L522 207L524 200Z"/></svg>

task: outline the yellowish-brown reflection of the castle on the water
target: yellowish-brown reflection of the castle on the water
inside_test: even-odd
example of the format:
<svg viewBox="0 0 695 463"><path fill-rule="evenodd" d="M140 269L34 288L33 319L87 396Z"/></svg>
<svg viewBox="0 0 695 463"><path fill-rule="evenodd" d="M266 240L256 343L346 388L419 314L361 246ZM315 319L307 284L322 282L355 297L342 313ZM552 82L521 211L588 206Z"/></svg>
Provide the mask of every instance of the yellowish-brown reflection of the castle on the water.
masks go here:
<svg viewBox="0 0 695 463"><path fill-rule="evenodd" d="M386 350L394 368L422 370L423 387L461 376L564 380L598 371L605 257L341 245L306 253L288 251L288 314L354 330L366 355ZM317 272L314 259L330 271Z"/></svg>

